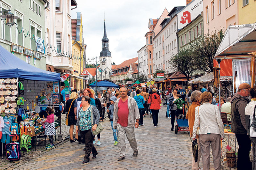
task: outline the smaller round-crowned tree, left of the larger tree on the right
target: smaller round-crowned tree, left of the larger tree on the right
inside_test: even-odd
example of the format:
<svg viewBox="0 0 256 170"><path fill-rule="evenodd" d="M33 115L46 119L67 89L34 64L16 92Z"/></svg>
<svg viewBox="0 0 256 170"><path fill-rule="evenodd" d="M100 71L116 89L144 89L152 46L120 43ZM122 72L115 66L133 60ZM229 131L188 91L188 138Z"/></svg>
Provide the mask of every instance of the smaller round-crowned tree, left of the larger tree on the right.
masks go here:
<svg viewBox="0 0 256 170"><path fill-rule="evenodd" d="M184 74L187 78L187 85L191 73L198 70L196 58L189 48L181 48L179 53L173 54L169 60L174 71Z"/></svg>

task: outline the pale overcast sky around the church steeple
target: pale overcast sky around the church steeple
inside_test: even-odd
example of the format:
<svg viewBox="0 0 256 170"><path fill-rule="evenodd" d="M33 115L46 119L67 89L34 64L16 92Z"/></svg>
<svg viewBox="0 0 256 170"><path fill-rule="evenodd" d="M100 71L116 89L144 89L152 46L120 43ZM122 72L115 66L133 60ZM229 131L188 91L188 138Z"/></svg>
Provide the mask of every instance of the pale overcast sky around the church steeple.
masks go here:
<svg viewBox="0 0 256 170"><path fill-rule="evenodd" d="M146 44L144 35L149 31L149 18L157 19L164 8L168 12L174 6L185 6L186 0L76 0L77 8L71 11L72 19L76 12L82 12L86 59L99 57L102 50L104 12L109 51L112 62L137 57L137 51Z"/></svg>

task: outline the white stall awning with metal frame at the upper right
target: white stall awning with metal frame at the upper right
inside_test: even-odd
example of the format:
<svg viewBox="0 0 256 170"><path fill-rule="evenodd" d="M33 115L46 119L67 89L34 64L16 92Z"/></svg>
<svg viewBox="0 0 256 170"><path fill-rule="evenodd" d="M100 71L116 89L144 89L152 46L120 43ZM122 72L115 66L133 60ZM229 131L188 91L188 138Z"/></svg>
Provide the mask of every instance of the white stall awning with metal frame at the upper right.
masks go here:
<svg viewBox="0 0 256 170"><path fill-rule="evenodd" d="M256 49L256 24L228 26L214 59L250 58Z"/></svg>

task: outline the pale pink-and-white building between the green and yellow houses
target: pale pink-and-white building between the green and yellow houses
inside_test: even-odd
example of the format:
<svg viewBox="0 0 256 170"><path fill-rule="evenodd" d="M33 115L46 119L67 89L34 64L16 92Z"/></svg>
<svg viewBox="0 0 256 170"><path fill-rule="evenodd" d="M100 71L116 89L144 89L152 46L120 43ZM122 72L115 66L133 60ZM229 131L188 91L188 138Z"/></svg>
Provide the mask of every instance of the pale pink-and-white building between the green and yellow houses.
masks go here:
<svg viewBox="0 0 256 170"><path fill-rule="evenodd" d="M53 0L45 11L46 42L52 45L52 48L45 49L46 70L60 72L60 75L73 74L70 14L76 6L75 0ZM73 86L72 82L70 85Z"/></svg>

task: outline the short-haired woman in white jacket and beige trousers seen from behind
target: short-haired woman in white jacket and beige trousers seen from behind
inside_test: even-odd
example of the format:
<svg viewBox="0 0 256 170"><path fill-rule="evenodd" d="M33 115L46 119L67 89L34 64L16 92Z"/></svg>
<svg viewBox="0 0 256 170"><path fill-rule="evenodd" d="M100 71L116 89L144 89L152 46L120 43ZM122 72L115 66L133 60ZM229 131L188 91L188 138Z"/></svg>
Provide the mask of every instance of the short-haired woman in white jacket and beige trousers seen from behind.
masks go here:
<svg viewBox="0 0 256 170"><path fill-rule="evenodd" d="M220 117L219 107L212 105L212 93L203 92L200 96L202 105L196 107L193 138L199 129L199 142L203 159L203 168L210 168L210 145L212 146L213 164L215 170L220 170L220 140L224 138L224 125ZM199 112L199 113L198 113Z"/></svg>

